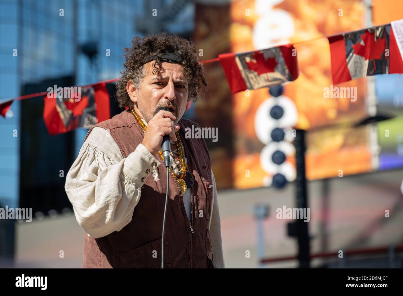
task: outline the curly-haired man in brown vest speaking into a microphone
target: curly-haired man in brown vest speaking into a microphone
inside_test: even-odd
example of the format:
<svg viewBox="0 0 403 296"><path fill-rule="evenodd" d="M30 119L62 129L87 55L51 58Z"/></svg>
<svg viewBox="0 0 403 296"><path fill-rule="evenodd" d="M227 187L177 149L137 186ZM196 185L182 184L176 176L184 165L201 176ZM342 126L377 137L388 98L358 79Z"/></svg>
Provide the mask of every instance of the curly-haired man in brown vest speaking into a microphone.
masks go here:
<svg viewBox="0 0 403 296"><path fill-rule="evenodd" d="M116 98L126 110L88 131L66 176L86 232L83 267L161 267L167 175L160 150L169 135L164 267L225 268L210 155L204 139L185 137L200 126L182 118L207 86L197 50L162 33L134 37L125 52Z"/></svg>

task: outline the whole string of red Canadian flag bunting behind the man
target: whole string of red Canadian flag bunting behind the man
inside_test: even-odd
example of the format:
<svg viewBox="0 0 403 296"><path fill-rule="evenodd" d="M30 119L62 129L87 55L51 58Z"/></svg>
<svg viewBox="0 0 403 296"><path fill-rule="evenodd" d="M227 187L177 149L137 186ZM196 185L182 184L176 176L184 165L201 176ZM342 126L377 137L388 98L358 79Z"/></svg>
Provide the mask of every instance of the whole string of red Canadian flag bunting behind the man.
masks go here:
<svg viewBox="0 0 403 296"><path fill-rule="evenodd" d="M326 37L330 46L331 73L334 84L360 77L403 73L403 19L390 24ZM311 41L311 40L310 40ZM309 42L309 41L305 41ZM303 43L303 42L300 42ZM293 44L244 53L220 54L202 63L220 61L231 93L290 83L298 77L297 51ZM42 96L43 117L51 135L90 128L110 118L109 94L101 81L79 88L69 95L44 91L0 102L0 114L6 117L15 100ZM80 97L79 100L75 98Z"/></svg>

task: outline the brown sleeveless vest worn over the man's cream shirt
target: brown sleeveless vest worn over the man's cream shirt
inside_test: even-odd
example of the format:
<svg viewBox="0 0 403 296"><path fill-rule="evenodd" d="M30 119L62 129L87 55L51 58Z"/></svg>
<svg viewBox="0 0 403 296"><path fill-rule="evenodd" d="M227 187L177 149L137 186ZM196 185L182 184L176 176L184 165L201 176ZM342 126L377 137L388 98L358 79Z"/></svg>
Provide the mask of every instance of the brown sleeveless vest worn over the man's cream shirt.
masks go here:
<svg viewBox="0 0 403 296"><path fill-rule="evenodd" d="M164 236L164 268L216 268L212 262L210 211L213 199L210 155L204 139L186 139L185 128L197 123L182 118L179 135L185 148L189 170L195 176L192 188L192 221L189 221L179 185L169 172L169 193ZM110 131L123 157L143 141L143 130L129 111L125 110L100 126ZM87 139L92 128L88 131ZM85 141L85 140L84 140ZM122 230L102 238L84 236L84 268L160 268L162 221L166 194L166 168L163 161L157 168L160 180L154 181L146 170L141 197L133 217ZM118 184L111 184L118 186ZM187 190L190 190L188 188ZM191 230L193 228L193 232Z"/></svg>

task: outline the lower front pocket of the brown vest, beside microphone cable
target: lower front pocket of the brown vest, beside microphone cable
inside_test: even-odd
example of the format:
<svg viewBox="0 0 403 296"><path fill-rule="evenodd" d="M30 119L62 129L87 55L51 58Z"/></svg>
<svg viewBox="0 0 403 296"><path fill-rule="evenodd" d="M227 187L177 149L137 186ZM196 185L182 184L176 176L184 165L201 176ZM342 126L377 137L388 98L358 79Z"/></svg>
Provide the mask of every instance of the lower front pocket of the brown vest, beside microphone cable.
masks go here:
<svg viewBox="0 0 403 296"><path fill-rule="evenodd" d="M155 240L114 256L114 268L161 268L161 242ZM164 236L164 268L171 268L171 250Z"/></svg>

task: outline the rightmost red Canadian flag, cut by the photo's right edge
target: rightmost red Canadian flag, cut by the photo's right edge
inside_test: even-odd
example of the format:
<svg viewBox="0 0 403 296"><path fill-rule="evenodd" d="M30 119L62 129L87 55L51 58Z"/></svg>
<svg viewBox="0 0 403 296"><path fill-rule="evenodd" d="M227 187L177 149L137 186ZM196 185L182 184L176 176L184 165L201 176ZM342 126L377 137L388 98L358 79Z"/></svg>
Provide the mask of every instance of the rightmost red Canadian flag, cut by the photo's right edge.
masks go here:
<svg viewBox="0 0 403 296"><path fill-rule="evenodd" d="M403 73L403 20L328 37L333 83Z"/></svg>

